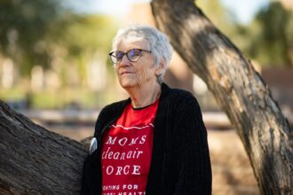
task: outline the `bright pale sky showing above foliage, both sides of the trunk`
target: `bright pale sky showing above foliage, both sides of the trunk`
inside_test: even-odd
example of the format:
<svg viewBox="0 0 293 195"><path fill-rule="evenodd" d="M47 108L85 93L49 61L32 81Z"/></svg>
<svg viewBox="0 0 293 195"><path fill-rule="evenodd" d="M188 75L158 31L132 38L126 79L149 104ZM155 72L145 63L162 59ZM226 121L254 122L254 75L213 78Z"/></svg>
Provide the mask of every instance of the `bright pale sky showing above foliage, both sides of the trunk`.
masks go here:
<svg viewBox="0 0 293 195"><path fill-rule="evenodd" d="M204 1L204 0L202 0ZM236 21L247 24L256 12L267 5L270 0L219 0L234 13ZM130 11L131 4L148 3L150 0L75 0L71 6L76 12L106 13L123 17Z"/></svg>

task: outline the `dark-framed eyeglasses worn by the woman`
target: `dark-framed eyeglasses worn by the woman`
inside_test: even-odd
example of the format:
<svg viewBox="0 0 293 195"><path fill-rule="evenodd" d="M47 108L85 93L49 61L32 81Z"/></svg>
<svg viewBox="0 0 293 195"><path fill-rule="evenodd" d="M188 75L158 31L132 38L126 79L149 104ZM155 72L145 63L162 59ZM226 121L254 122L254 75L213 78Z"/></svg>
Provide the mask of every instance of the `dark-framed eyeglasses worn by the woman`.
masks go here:
<svg viewBox="0 0 293 195"><path fill-rule="evenodd" d="M109 53L109 55L110 55L110 58L111 58L111 61L113 62L113 64L120 63L123 60L124 55L126 55L126 57L131 62L136 62L141 57L142 51L152 53L152 51L146 51L146 50L142 50L142 49L132 49L132 50L127 51L125 53L123 51L112 51Z"/></svg>

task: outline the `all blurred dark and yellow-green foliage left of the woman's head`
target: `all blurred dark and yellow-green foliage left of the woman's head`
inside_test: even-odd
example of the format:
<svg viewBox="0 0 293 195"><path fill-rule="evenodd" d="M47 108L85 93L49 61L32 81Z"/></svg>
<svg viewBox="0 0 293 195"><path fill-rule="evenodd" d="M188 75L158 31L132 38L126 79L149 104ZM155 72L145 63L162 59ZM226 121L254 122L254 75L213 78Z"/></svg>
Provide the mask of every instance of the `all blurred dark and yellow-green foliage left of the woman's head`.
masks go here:
<svg viewBox="0 0 293 195"><path fill-rule="evenodd" d="M108 17L78 15L58 0L2 0L0 24L0 54L12 58L21 75L64 58L76 61L84 77L85 64L95 52L109 50L115 32Z"/></svg>

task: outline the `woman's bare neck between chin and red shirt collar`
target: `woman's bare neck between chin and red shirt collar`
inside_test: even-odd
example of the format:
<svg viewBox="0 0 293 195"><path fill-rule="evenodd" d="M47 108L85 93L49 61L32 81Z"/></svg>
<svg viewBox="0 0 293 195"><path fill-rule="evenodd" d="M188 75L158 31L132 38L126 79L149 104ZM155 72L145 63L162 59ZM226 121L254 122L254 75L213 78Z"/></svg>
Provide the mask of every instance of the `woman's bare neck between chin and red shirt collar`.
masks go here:
<svg viewBox="0 0 293 195"><path fill-rule="evenodd" d="M161 95L161 85L155 83L152 85L139 85L127 89L131 97L131 105L134 108L145 107L153 104Z"/></svg>

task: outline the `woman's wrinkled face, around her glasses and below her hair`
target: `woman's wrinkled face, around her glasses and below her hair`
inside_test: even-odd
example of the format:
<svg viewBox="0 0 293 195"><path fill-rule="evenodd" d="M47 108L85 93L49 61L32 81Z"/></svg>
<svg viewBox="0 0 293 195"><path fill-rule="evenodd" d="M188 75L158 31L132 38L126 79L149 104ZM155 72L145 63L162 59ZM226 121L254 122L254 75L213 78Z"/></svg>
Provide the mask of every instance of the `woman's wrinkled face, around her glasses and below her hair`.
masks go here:
<svg viewBox="0 0 293 195"><path fill-rule="evenodd" d="M141 56L138 61L131 62L126 55L122 60L115 65L115 72L118 76L120 85L124 88L139 87L141 85L155 84L156 72L158 66L154 66L154 58L150 52L148 52L147 43L141 41L123 41L117 47L117 51L124 53L133 49L145 50L141 51ZM131 53L130 53L131 54Z"/></svg>

